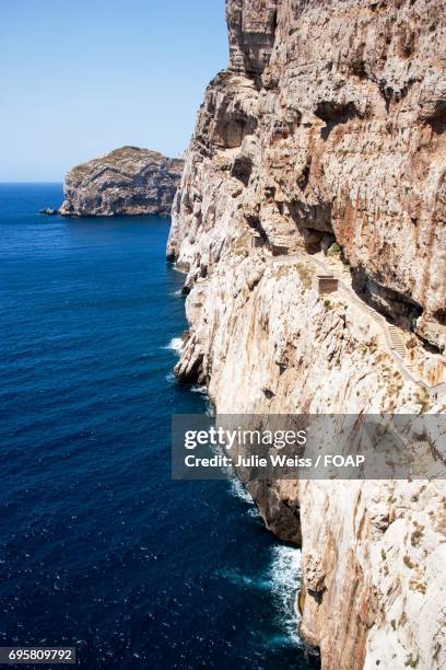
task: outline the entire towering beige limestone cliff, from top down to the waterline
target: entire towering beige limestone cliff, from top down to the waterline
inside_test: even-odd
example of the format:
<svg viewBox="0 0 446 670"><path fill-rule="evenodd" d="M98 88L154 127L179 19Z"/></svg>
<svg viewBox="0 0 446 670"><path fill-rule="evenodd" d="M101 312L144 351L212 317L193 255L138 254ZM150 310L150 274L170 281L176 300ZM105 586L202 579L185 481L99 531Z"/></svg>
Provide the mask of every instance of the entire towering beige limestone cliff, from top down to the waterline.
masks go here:
<svg viewBox="0 0 446 670"><path fill-rule="evenodd" d="M444 365L442 3L226 7L230 67L207 90L173 208L167 257L190 291L177 374L206 382L220 413L445 412L367 307ZM319 299L317 262L357 300ZM247 485L273 532L302 533L301 632L325 669L446 667L444 483Z"/></svg>

